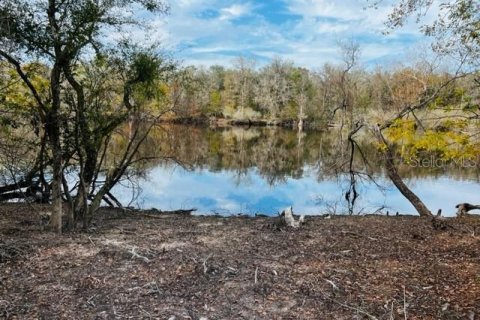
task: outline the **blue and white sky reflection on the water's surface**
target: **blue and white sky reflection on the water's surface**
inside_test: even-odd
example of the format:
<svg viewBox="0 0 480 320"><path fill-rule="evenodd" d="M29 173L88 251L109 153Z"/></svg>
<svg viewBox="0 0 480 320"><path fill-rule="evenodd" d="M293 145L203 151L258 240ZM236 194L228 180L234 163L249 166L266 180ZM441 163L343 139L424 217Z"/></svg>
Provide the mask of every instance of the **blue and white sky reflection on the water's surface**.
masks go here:
<svg viewBox="0 0 480 320"><path fill-rule="evenodd" d="M358 190L357 212L372 213L380 207L385 213L399 211L414 214L414 208L391 183L380 181L379 190L371 183L363 183ZM208 170L186 171L181 168L156 167L140 181L143 190L137 205L160 210L198 209L204 214L264 213L275 214L292 205L294 212L323 214L336 208L345 212L346 181L318 181L308 168L301 179L287 179L285 183L269 185L255 170L238 179L235 172ZM409 183L427 207L433 212L442 208L444 215L454 215L455 205L461 202L478 203L480 184L449 177L422 178ZM114 193L128 202L130 192L116 187Z"/></svg>

